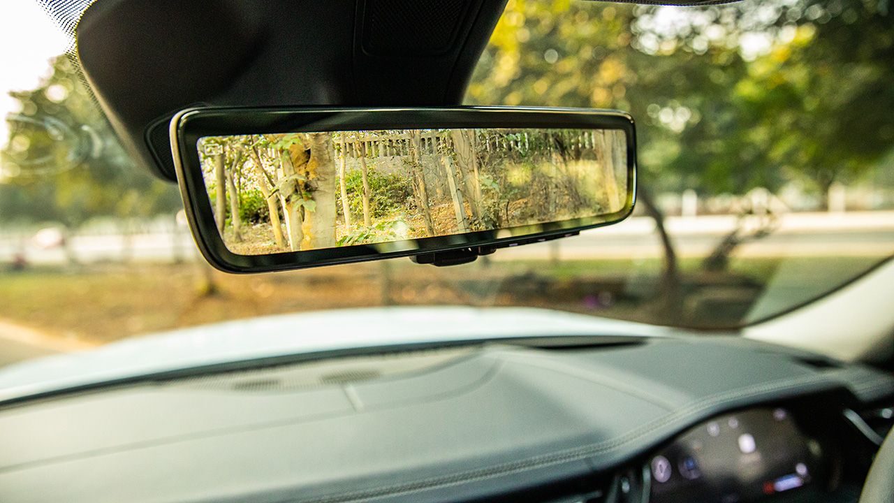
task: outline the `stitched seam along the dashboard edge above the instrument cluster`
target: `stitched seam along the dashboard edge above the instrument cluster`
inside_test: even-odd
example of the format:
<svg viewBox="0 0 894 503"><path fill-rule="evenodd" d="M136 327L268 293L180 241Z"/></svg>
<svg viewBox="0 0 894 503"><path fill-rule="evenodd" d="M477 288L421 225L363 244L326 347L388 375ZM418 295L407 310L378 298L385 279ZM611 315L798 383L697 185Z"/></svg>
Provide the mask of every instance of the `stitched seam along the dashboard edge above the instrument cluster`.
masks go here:
<svg viewBox="0 0 894 503"><path fill-rule="evenodd" d="M655 429L667 426L674 421L679 421L680 419L687 418L689 414L692 413L701 413L707 410L710 410L714 405L718 405L723 403L726 400L731 398L752 398L755 396L760 396L764 393L769 393L772 391L785 391L789 389L797 389L799 391L804 391L805 387L808 385L825 385L826 388L834 388L836 386L841 385L841 383L837 379L829 379L828 376L820 374L820 375L807 375L801 376L793 379L784 379L776 382L770 383L761 383L757 385L748 386L745 388L738 388L735 390L726 390L720 393L715 393L713 395L705 396L701 399L698 399L689 405L685 405L684 407L679 408L677 411L669 414L665 414L662 417L655 419L652 422L648 422L645 425L628 431L623 435L615 439L603 440L600 442L596 442L595 444L590 444L583 447L566 449L563 451L556 451L551 454L544 454L539 456L534 456L527 458L525 460L516 461L512 463L507 463L503 465L494 465L492 467L483 468L475 471L470 471L466 473L455 473L453 475L446 476L438 476L432 477L429 479L420 480L417 482L406 482L397 485L391 486L380 486L377 488L372 488L368 490L360 490L353 494L342 494L342 495L330 495L313 499L297 499L293 501L302 501L305 503L335 503L340 501L363 501L369 499L382 498L384 496L389 496L393 494L408 494L413 492L418 492L420 490L428 490L437 487L451 487L453 485L459 485L461 483L466 482L476 482L476 481L484 481L487 479L492 479L498 476L517 473L520 471L524 471L528 468L532 467L543 467L549 465L558 465L565 462L575 461L579 459L584 459L587 456L593 456L595 454L604 453L611 451L612 449L619 448L624 444L632 442L634 440L640 439L649 433L654 433Z"/></svg>

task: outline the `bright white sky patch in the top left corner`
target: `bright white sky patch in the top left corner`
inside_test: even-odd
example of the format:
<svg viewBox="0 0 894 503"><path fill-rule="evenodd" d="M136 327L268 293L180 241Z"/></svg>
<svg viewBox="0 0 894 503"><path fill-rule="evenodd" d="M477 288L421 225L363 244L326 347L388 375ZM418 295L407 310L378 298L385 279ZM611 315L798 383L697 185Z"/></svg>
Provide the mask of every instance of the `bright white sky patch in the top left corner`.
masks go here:
<svg viewBox="0 0 894 503"><path fill-rule="evenodd" d="M9 91L36 88L50 70L50 58L63 54L68 44L37 0L0 2L0 118L18 112ZM8 141L6 132L6 121L0 120L0 142Z"/></svg>

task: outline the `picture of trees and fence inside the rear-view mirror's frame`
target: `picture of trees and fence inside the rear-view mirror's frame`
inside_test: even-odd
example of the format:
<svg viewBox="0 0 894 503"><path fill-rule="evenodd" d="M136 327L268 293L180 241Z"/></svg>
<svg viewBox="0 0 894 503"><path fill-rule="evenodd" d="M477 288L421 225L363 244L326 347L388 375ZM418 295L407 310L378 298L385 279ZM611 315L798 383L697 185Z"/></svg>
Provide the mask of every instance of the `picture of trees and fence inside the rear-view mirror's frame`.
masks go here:
<svg viewBox="0 0 894 503"><path fill-rule="evenodd" d="M215 225L242 255L607 216L627 203L620 130L207 136L198 154Z"/></svg>

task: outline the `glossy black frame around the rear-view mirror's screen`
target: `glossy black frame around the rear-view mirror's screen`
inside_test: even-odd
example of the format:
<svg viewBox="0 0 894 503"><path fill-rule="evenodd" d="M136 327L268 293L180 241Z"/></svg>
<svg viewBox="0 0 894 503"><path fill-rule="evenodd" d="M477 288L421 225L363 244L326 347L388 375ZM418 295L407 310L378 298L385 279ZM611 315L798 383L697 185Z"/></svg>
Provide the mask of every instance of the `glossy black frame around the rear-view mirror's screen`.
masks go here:
<svg viewBox="0 0 894 503"><path fill-rule="evenodd" d="M266 255L231 252L215 226L198 155L206 136L287 132L370 131L434 128L576 128L618 130L627 140L628 184L616 212L507 229L448 234L390 243L371 243ZM637 142L633 118L616 110L556 107L193 107L173 116L170 126L174 168L183 206L199 251L216 269L255 273L305 269L367 260L412 257L462 249L489 251L536 243L623 220L637 197ZM532 232L534 231L534 232ZM509 235L504 235L509 234ZM413 247L413 244L417 246ZM425 246L422 246L425 245ZM387 250L392 249L392 250Z"/></svg>

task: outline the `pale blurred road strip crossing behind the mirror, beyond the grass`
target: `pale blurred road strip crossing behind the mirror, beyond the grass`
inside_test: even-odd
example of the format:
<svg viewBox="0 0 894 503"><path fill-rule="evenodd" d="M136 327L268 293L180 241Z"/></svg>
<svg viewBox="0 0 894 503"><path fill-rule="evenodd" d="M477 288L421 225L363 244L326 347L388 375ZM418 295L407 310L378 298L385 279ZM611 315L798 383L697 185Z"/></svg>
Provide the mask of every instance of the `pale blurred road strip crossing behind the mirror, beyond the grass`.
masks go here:
<svg viewBox="0 0 894 503"><path fill-rule="evenodd" d="M746 221L746 225L754 225ZM667 227L681 257L704 257L736 227L732 216L670 217ZM0 263L13 260L24 244L32 264L62 264L62 249L42 249L28 240L0 239ZM79 236L72 239L72 251L84 262L126 260L198 260L190 234L116 234ZM769 236L737 249L742 257L778 256L866 256L894 252L894 211L793 213L780 217L778 228ZM501 251L494 260L544 259L625 259L662 257L662 247L648 217L631 217L570 238Z"/></svg>

